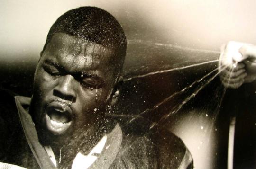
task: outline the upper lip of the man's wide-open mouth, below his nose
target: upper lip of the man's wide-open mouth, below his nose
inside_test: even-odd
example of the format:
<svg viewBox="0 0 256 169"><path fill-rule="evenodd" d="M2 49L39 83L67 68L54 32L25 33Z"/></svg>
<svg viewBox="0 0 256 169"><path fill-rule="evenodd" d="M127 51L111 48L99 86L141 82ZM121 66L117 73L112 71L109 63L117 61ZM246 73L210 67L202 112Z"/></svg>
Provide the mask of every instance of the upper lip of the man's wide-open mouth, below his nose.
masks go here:
<svg viewBox="0 0 256 169"><path fill-rule="evenodd" d="M60 113L64 113L64 115L68 117L69 121L71 121L73 118L73 111L70 108L69 104L66 103L65 101L62 101L62 100L51 101L46 108L46 112L48 113L53 110L58 111Z"/></svg>

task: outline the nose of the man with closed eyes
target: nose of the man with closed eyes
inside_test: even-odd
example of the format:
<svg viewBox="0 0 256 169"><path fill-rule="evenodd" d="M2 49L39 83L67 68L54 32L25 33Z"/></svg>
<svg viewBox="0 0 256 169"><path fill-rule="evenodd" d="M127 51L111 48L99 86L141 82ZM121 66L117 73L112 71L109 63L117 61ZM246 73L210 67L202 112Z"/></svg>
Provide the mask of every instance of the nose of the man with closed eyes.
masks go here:
<svg viewBox="0 0 256 169"><path fill-rule="evenodd" d="M53 91L53 95L67 101L75 101L76 92L74 89L74 77L65 75L59 78L58 84Z"/></svg>

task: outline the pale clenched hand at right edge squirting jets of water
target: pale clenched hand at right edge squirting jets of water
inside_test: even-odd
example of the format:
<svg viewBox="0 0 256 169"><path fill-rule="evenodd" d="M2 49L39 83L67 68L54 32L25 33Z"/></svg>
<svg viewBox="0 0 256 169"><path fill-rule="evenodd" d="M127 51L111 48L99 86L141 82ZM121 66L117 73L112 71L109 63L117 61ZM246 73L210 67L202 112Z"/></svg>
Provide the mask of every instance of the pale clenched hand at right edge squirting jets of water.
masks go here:
<svg viewBox="0 0 256 169"><path fill-rule="evenodd" d="M230 41L221 49L220 80L226 88L239 88L256 79L256 46Z"/></svg>

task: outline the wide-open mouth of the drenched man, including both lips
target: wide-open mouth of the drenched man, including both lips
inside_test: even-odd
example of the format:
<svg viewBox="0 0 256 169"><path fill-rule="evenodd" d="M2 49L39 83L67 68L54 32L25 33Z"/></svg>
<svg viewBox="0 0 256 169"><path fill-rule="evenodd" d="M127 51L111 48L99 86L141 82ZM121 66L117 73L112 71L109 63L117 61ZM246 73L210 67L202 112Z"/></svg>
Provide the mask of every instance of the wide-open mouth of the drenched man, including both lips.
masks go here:
<svg viewBox="0 0 256 169"><path fill-rule="evenodd" d="M55 135L63 134L72 124L72 111L62 102L51 102L46 108L46 127Z"/></svg>

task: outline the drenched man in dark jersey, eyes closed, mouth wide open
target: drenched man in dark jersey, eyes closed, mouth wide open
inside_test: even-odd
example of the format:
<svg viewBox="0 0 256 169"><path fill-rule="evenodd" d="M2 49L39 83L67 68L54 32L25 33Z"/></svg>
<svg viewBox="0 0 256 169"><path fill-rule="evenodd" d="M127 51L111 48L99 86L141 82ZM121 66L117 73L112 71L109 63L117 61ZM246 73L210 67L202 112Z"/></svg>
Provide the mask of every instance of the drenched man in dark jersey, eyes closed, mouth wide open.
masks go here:
<svg viewBox="0 0 256 169"><path fill-rule="evenodd" d="M126 36L95 7L66 12L51 27L32 98L1 91L1 161L26 168L192 168L172 133L125 133L109 117L117 101ZM108 110L107 110L108 109ZM18 113L17 113L18 111Z"/></svg>

